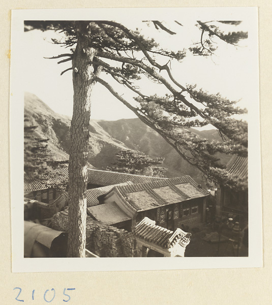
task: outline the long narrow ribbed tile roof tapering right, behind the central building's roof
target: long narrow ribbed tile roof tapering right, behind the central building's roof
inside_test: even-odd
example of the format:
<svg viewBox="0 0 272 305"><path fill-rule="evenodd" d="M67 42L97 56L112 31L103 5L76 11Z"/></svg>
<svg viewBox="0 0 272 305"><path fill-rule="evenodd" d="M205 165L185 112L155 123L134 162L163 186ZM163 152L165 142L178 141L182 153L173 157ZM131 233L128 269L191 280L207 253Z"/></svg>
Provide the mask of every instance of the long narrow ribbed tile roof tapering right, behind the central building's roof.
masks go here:
<svg viewBox="0 0 272 305"><path fill-rule="evenodd" d="M88 169L88 183L98 186L116 185L127 181L131 181L133 182L133 184L139 184L165 179L167 178L140 176L126 173L110 172L99 169Z"/></svg>

